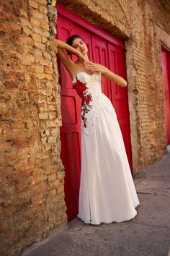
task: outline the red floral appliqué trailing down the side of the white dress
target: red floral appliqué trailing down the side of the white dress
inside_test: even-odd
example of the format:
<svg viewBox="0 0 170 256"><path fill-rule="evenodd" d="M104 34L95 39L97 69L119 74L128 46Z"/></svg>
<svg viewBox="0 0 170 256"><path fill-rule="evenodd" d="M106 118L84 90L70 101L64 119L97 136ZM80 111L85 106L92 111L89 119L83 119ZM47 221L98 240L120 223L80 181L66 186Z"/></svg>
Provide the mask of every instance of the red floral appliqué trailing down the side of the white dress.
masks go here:
<svg viewBox="0 0 170 256"><path fill-rule="evenodd" d="M86 82L81 82L77 77L76 82L73 84L73 88L76 90L76 93L78 93L82 99L81 118L84 121L84 127L86 127L87 119L85 116L86 113L88 113L92 108L92 106L90 105L90 102L92 101L92 96L91 93L88 93L88 87L86 87Z"/></svg>

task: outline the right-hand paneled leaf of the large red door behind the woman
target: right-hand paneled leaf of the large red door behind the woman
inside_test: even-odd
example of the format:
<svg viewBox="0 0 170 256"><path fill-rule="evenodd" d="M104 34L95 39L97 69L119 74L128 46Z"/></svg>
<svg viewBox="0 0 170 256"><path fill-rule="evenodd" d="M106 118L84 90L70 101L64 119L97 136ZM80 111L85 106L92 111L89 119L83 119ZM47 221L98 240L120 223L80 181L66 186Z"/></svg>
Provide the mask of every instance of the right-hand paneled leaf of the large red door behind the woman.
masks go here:
<svg viewBox="0 0 170 256"><path fill-rule="evenodd" d="M108 43L104 38L100 38L97 35L91 36L91 42L94 62L103 64L112 72L119 74L126 79L124 49ZM103 77L102 91L107 95L115 108L125 143L126 153L128 155L128 161L130 163L130 168L132 169L127 88L122 88L120 85L117 85L116 82Z"/></svg>

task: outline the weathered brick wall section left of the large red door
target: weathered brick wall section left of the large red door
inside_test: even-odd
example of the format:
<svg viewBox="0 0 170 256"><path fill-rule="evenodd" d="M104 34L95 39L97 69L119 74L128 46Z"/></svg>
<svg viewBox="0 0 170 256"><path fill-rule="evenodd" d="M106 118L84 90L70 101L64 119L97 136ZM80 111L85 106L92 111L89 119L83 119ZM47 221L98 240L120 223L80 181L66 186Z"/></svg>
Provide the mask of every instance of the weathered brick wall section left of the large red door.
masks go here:
<svg viewBox="0 0 170 256"><path fill-rule="evenodd" d="M47 2L1 3L0 255L66 221L56 46Z"/></svg>

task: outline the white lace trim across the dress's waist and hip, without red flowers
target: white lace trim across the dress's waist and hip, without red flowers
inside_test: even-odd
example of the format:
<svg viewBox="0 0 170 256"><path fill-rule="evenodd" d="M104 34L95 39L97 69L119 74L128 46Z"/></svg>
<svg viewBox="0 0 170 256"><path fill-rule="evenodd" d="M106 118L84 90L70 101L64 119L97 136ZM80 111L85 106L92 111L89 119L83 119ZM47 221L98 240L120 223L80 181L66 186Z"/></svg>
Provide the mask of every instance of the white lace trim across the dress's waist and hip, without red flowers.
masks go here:
<svg viewBox="0 0 170 256"><path fill-rule="evenodd" d="M98 119L99 111L101 109L105 109L110 113L115 113L115 109L113 108L111 101L109 101L109 98L107 98L104 93L97 95L93 94L92 97L93 101L91 103L91 111L86 114L86 127L84 127L84 121L81 120L81 131L85 132L87 135L89 135L91 127L93 127L94 122Z"/></svg>

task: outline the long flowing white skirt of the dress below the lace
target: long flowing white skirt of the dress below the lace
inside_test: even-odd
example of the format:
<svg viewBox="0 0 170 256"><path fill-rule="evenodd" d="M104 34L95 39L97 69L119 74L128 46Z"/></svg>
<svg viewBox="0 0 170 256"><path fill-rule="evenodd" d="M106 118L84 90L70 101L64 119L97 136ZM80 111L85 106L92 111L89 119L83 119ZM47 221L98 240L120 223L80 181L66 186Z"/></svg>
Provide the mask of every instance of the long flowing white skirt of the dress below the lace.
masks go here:
<svg viewBox="0 0 170 256"><path fill-rule="evenodd" d="M99 109L89 134L81 131L78 217L94 225L128 221L138 204L115 109Z"/></svg>

